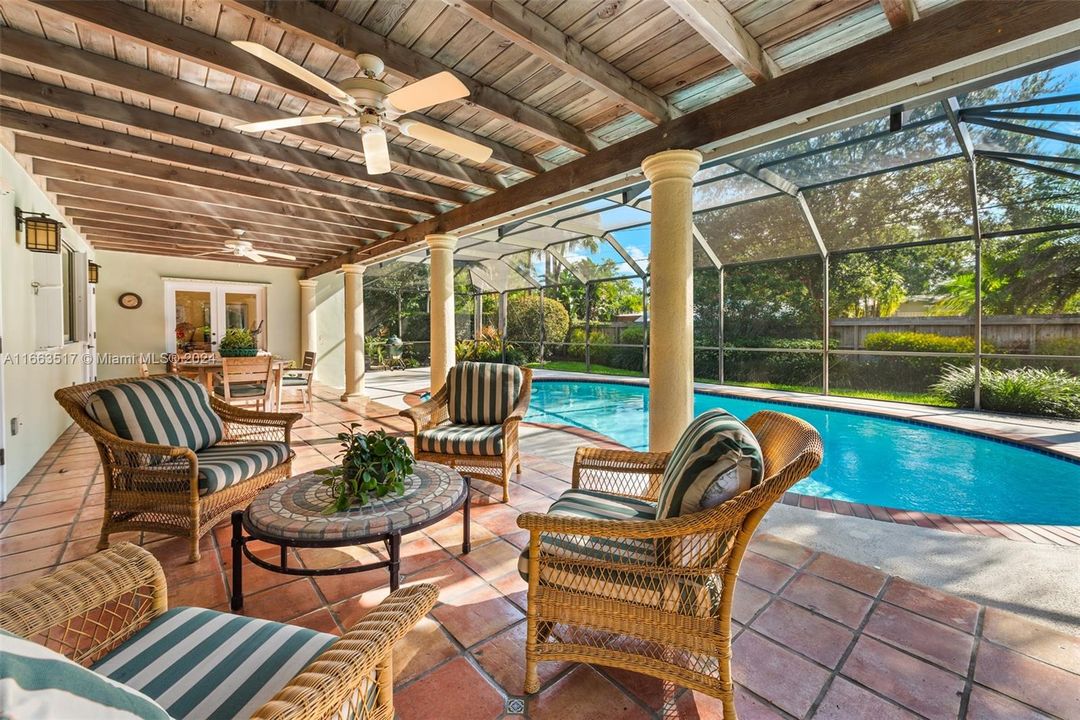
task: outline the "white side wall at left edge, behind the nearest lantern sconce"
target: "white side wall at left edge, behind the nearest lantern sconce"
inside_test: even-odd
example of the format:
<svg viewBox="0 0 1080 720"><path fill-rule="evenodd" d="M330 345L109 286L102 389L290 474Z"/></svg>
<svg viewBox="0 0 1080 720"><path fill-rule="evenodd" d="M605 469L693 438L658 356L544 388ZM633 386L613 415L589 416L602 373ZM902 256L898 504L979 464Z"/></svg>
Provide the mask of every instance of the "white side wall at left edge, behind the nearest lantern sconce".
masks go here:
<svg viewBox="0 0 1080 720"><path fill-rule="evenodd" d="M33 253L15 243L15 207L48 213L60 219L59 210L33 178L10 151L10 133L0 134L0 312L3 315L3 405L4 449L6 454L5 485L11 488L33 467L33 464L71 424L71 419L53 399L58 388L83 380L83 367L71 365L30 365L22 353L37 350L33 323ZM65 228L64 242L80 253L93 250L76 231ZM65 355L77 355L84 343L69 343ZM12 420L18 423L18 434L12 436Z"/></svg>

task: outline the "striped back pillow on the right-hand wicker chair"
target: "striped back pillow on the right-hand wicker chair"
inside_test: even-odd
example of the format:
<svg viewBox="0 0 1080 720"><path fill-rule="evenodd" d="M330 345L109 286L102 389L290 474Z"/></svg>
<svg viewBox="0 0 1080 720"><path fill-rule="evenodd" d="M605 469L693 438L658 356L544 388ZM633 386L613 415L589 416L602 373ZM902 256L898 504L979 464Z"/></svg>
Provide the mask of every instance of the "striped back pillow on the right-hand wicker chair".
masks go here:
<svg viewBox="0 0 1080 720"><path fill-rule="evenodd" d="M657 501L657 519L715 507L761 481L761 447L731 413L708 410L675 444Z"/></svg>

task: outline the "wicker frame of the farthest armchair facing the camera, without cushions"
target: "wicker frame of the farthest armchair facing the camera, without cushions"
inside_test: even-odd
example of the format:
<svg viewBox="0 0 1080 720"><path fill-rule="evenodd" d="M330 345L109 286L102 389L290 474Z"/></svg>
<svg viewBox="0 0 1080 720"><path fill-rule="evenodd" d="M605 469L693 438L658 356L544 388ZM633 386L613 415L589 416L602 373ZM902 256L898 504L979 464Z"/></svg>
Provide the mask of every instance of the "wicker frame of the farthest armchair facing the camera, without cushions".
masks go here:
<svg viewBox="0 0 1080 720"><path fill-rule="evenodd" d="M454 372L454 368L450 369ZM502 488L502 502L510 500L510 475L513 468L522 472L517 448L517 425L529 409L529 394L532 391L532 370L521 368L522 385L513 409L501 423L502 451L498 453L473 454L464 452L431 452L420 448L420 433L446 427L449 422L449 386L444 384L431 399L401 411L401 416L413 421L413 440L417 460L429 460L462 471L473 479L495 483Z"/></svg>

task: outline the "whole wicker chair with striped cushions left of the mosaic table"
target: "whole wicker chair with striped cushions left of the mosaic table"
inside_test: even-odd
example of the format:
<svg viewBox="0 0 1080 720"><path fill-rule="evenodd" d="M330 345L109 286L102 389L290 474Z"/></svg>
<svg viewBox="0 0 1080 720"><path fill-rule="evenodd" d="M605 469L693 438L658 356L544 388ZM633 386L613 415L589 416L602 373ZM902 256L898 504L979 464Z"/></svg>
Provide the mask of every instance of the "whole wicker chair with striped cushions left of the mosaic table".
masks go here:
<svg viewBox="0 0 1080 720"><path fill-rule="evenodd" d="M102 457L98 549L113 532L161 532L190 539L195 561L204 534L292 474L299 413L232 407L175 375L72 385L55 397Z"/></svg>

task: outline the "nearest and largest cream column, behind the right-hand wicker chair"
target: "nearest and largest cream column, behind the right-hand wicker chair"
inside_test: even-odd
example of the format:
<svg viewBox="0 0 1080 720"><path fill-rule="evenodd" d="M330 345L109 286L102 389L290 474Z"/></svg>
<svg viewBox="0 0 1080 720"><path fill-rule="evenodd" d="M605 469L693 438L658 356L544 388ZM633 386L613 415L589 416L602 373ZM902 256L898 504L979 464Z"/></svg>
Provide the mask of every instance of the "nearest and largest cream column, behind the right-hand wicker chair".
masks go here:
<svg viewBox="0 0 1080 720"><path fill-rule="evenodd" d="M650 155L649 450L665 452L693 419L693 194L697 150Z"/></svg>

